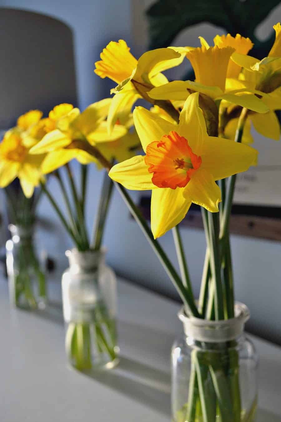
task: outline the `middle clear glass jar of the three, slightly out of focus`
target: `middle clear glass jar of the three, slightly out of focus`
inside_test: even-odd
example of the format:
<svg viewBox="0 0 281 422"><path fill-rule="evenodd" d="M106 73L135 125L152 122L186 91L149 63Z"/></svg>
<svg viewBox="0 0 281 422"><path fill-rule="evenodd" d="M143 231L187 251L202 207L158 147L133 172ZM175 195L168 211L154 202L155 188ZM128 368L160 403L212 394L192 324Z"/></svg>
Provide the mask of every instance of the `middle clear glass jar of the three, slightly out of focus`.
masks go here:
<svg viewBox="0 0 281 422"><path fill-rule="evenodd" d="M66 251L63 273L65 350L80 371L113 368L118 360L116 276L105 265L105 250Z"/></svg>

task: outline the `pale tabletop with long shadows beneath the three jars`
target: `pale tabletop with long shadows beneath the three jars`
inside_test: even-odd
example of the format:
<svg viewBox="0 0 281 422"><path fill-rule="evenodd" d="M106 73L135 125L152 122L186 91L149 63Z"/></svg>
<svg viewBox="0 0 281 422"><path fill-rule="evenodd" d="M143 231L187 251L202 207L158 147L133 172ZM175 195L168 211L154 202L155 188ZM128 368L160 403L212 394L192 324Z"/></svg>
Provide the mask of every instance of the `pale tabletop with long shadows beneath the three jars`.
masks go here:
<svg viewBox="0 0 281 422"><path fill-rule="evenodd" d="M168 422L169 354L178 304L118 280L120 365L87 376L66 365L60 285L44 314L11 309L0 279L1 422ZM253 339L260 356L259 422L281 422L281 348Z"/></svg>

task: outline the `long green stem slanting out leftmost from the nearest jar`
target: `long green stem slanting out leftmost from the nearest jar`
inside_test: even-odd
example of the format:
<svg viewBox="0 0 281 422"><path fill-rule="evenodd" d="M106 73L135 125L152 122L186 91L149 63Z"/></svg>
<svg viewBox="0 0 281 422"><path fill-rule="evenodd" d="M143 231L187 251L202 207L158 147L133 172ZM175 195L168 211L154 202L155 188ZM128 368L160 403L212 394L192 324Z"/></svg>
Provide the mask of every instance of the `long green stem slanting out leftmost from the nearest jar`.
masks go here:
<svg viewBox="0 0 281 422"><path fill-rule="evenodd" d="M126 189L115 182L115 186L117 187L118 191L120 192L123 200L125 201L127 207L131 211L131 214L134 216L136 222L139 224L139 227L142 229L147 241L150 243L150 246L156 253L158 259L160 260L161 264L163 265L166 273L168 274L169 278L173 282L177 292L179 293L183 303L185 304L187 310L197 318L200 318L200 314L196 308L194 300L191 298L190 293L184 287L183 282L181 281L180 277L178 276L175 268L173 267L172 263L170 262L169 258L165 254L164 250L161 248L158 241L153 238L153 234L151 233L150 228L147 225L147 222L143 218L139 209L135 206L134 202L131 200L130 195L128 195Z"/></svg>

